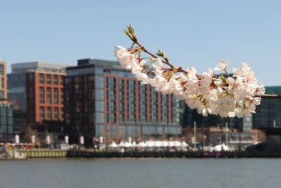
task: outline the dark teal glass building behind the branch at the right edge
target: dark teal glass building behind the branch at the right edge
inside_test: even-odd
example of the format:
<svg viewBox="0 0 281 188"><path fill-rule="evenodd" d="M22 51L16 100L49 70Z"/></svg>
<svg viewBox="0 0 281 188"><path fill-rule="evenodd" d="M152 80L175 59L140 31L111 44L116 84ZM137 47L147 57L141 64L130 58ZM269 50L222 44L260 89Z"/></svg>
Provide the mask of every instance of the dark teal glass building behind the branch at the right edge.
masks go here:
<svg viewBox="0 0 281 188"><path fill-rule="evenodd" d="M281 86L266 87L266 94L281 94ZM253 114L253 127L281 127L281 99L263 98Z"/></svg>

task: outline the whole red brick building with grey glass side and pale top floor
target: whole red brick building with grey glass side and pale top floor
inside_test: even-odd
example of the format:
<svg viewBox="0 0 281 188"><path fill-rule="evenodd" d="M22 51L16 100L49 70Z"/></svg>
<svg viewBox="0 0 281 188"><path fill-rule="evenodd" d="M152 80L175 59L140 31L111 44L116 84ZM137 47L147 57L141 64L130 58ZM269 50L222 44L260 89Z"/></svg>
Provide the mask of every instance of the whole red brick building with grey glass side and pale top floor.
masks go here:
<svg viewBox="0 0 281 188"><path fill-rule="evenodd" d="M11 65L8 100L13 103L16 127L37 125L44 120L62 120L66 66L39 61Z"/></svg>

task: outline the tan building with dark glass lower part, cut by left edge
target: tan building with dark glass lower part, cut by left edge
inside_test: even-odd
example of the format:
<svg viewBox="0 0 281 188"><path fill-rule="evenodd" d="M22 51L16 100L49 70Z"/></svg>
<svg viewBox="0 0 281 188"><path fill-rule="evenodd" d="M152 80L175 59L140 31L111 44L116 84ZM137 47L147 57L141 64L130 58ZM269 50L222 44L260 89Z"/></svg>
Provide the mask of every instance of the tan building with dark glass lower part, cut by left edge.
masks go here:
<svg viewBox="0 0 281 188"><path fill-rule="evenodd" d="M0 61L0 142L13 139L13 106L7 102L6 63Z"/></svg>

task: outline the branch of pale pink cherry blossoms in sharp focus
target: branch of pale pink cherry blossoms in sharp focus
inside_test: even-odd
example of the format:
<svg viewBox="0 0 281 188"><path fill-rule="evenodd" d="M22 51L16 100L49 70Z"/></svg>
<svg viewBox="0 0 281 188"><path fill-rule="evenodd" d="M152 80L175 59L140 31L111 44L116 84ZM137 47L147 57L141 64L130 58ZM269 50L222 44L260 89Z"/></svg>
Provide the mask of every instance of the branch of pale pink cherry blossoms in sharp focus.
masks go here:
<svg viewBox="0 0 281 188"><path fill-rule="evenodd" d="M238 69L233 68L232 74L228 74L228 62L221 59L214 70L224 72L227 77L223 74L218 77L211 69L198 75L195 68L183 70L172 64L160 50L153 54L145 49L138 42L131 25L124 33L133 44L129 49L115 46L115 56L122 67L131 70L143 84L155 87L156 92L174 94L204 116L214 114L242 118L255 113L261 98L281 98L280 95L265 94L265 88L257 83L254 72L247 63L242 63ZM148 62L145 61L147 58L141 58L141 52L150 56ZM163 64L169 68L165 68Z"/></svg>

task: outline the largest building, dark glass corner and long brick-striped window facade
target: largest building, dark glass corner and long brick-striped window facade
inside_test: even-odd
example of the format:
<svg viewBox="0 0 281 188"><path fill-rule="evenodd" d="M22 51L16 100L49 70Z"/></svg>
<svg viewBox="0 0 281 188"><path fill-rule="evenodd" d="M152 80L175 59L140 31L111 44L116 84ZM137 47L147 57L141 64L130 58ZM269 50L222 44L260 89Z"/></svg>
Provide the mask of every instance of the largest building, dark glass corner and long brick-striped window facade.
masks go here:
<svg viewBox="0 0 281 188"><path fill-rule="evenodd" d="M145 139L181 134L178 100L141 84L117 61L81 59L67 68L64 119L70 139Z"/></svg>

